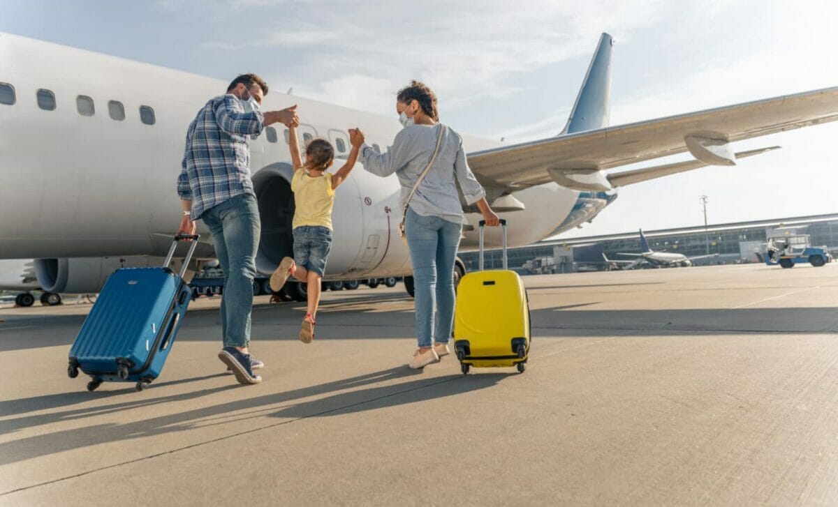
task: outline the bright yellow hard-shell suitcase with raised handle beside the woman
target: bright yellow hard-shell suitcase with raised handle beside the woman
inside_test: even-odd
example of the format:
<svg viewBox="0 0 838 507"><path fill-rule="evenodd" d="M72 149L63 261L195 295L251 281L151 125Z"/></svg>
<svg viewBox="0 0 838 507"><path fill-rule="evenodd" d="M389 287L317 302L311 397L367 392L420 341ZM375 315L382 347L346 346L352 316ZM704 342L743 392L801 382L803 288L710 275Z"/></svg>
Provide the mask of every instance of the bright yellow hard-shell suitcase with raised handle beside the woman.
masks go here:
<svg viewBox="0 0 838 507"><path fill-rule="evenodd" d="M504 269L484 271L484 226L480 221L480 270L466 274L457 288L454 350L463 373L469 368L517 366L530 357L530 306L524 284L507 269L506 221Z"/></svg>

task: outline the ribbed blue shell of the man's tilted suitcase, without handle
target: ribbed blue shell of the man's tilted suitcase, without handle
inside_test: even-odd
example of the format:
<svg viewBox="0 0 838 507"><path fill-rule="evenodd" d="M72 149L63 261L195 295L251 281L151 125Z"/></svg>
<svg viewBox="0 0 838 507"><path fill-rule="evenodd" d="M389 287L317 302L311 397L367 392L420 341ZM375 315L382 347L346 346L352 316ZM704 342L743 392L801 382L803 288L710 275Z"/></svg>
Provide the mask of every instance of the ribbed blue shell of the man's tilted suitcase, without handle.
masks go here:
<svg viewBox="0 0 838 507"><path fill-rule="evenodd" d="M178 290L177 276L162 268L119 269L107 279L87 315L70 357L83 370L116 367L116 357L141 366Z"/></svg>

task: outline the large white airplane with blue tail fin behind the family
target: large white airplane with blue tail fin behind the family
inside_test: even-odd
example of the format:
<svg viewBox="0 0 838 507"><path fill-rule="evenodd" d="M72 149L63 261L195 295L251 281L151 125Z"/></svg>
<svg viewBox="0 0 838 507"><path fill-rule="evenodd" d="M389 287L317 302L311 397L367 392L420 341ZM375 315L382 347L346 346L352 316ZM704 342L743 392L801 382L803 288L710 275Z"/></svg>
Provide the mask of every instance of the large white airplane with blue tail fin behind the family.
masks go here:
<svg viewBox="0 0 838 507"><path fill-rule="evenodd" d="M590 222L618 187L739 159L733 143L838 119L838 87L712 110L609 126L613 38L599 38L565 128L538 141L504 144L463 136L487 200L523 246ZM175 182L189 122L227 82L106 54L0 33L0 259L35 259L39 285L94 293L118 259L159 259L180 219ZM358 126L380 150L401 129L374 115L282 93L262 110L297 104L303 141L322 136L338 156ZM251 141L261 215L256 259L270 274L292 252L292 166L282 125ZM690 161L612 170L689 151ZM360 165L360 164L359 164ZM326 280L406 277L411 265L396 232L400 185L357 167L334 202L334 248ZM480 215L463 202L463 251L477 248ZM215 257L203 223L196 259ZM487 235L487 247L500 234ZM153 264L151 260L147 261ZM156 262L156 261L154 261ZM464 264L458 262L457 274ZM300 284L302 285L302 284ZM408 286L408 291L410 285ZM300 287L304 290L304 286Z"/></svg>

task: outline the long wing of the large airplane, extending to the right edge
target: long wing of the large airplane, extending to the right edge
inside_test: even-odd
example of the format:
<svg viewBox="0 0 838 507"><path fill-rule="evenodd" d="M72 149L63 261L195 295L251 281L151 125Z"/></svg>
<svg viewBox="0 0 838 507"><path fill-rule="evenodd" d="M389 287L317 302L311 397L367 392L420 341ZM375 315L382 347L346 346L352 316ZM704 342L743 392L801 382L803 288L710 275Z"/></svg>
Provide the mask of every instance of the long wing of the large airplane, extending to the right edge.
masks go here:
<svg viewBox="0 0 838 507"><path fill-rule="evenodd" d="M484 185L510 191L552 181L579 190L607 190L708 164L734 165L731 142L835 120L838 87L476 151L468 154L468 165ZM685 151L699 165L603 173Z"/></svg>

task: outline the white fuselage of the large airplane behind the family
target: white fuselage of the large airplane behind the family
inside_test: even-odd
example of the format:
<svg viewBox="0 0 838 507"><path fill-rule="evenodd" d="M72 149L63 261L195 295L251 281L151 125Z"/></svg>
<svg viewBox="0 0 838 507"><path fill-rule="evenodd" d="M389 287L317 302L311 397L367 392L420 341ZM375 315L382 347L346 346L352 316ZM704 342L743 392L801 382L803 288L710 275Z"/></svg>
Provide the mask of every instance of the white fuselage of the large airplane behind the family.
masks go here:
<svg viewBox="0 0 838 507"><path fill-rule="evenodd" d="M0 83L12 85L16 95L13 105L0 104L0 259L165 254L180 219L175 187L186 128L227 83L5 33L0 34ZM42 89L54 94L54 110L39 108L36 93ZM94 101L94 115L80 115L80 95ZM124 106L124 120L111 119L111 100ZM262 110L294 104L303 122L300 135L326 137L333 144L341 137L348 146L346 131L358 126L369 144L384 150L401 128L395 108L392 116L372 115L276 90L266 95ZM153 108L154 125L140 120L142 105ZM274 209L287 207L277 196L284 195L279 187L290 175L285 129L273 126L277 142L265 133L251 141L251 172L263 218L262 273L270 272L281 254L268 251L270 234L290 232L277 229L286 218L266 221ZM463 142L466 151L499 145L471 137ZM505 217L510 246L555 233L578 193L554 183L515 192L526 209ZM406 246L396 233L398 195L396 177L375 177L356 166L335 198L328 278L410 274ZM467 220L476 225L479 216ZM209 238L201 223L199 233ZM489 235L489 246L499 245L499 234L494 236ZM463 248L476 244L477 232L466 232ZM213 256L209 240L197 254Z"/></svg>

